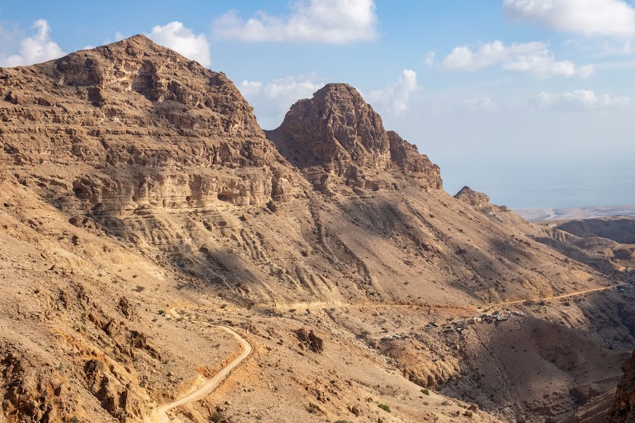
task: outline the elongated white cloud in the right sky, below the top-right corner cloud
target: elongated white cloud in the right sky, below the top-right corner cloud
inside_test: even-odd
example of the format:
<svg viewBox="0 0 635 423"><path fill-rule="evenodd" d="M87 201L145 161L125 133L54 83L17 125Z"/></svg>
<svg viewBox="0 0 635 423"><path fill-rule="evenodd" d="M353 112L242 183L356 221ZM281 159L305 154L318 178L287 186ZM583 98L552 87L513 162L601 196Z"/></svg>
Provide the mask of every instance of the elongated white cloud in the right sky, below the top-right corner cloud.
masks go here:
<svg viewBox="0 0 635 423"><path fill-rule="evenodd" d="M505 45L500 41L481 45L478 49L454 47L443 60L443 67L450 71L477 71L488 66L500 65L506 71L533 73L541 78L564 76L588 78L593 66L578 66L571 61L557 61L543 42L526 42Z"/></svg>

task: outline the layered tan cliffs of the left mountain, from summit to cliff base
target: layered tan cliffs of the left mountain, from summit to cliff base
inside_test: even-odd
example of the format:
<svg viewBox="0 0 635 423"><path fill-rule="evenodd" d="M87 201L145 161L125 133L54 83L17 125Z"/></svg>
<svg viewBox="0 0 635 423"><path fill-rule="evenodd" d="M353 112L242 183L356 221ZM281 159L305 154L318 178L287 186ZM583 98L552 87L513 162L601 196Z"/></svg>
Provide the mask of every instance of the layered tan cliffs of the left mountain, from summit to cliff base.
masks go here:
<svg viewBox="0 0 635 423"><path fill-rule="evenodd" d="M296 195L296 173L231 81L143 35L1 68L0 99L0 161L42 164L49 175L37 184L68 207L127 212Z"/></svg>

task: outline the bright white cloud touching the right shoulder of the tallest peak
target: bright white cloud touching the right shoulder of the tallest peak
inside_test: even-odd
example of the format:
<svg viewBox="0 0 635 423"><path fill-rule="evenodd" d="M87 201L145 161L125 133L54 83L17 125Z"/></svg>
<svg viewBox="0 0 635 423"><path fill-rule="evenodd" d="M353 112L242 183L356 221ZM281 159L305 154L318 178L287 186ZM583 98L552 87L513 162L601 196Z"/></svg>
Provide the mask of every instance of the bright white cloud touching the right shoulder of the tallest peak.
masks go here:
<svg viewBox="0 0 635 423"><path fill-rule="evenodd" d="M195 35L192 30L180 22L170 22L167 25L156 25L147 35L157 44L173 49L188 59L198 61L206 68L212 64L210 42L205 34Z"/></svg>

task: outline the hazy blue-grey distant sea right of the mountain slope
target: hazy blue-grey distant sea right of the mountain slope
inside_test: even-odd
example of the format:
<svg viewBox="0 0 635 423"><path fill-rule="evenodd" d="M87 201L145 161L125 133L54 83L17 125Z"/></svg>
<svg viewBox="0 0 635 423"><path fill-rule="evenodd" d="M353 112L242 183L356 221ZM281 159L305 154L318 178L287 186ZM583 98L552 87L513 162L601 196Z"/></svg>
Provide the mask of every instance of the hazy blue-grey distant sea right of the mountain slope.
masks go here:
<svg viewBox="0 0 635 423"><path fill-rule="evenodd" d="M491 169L457 177L442 167L443 185L451 195L464 185L485 192L493 204L514 209L591 207L635 204L635 160L617 168L514 171ZM480 172L483 172L482 168Z"/></svg>

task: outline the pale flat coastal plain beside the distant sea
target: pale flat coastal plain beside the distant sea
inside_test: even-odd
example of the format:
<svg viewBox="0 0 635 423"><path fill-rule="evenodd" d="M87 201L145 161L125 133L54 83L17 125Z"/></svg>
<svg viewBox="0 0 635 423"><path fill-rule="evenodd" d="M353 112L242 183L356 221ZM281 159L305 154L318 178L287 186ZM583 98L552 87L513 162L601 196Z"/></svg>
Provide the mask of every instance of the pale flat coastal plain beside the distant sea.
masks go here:
<svg viewBox="0 0 635 423"><path fill-rule="evenodd" d="M512 211L530 222L595 219L610 216L635 216L635 204L626 206L562 207L557 209L512 209Z"/></svg>

